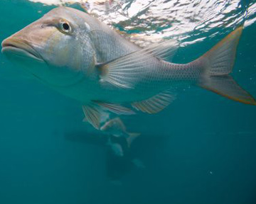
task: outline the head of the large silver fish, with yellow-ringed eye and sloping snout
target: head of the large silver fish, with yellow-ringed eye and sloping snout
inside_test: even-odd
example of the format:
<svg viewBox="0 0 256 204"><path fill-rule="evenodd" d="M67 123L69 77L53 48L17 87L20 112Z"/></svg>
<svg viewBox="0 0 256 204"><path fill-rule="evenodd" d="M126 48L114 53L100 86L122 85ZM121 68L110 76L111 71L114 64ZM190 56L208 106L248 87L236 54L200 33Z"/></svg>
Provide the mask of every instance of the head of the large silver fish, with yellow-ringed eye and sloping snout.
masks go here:
<svg viewBox="0 0 256 204"><path fill-rule="evenodd" d="M76 83L95 66L86 15L74 8L54 8L6 38L2 52L48 84Z"/></svg>

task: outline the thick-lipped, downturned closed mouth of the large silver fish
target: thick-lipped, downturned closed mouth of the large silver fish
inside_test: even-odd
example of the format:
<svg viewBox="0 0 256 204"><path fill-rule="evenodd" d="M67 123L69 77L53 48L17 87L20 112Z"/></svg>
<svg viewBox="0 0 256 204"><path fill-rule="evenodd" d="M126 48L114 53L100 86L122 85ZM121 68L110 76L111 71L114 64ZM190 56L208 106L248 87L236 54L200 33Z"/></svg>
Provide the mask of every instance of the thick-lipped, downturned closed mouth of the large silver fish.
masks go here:
<svg viewBox="0 0 256 204"><path fill-rule="evenodd" d="M1 52L4 54L15 54L21 57L29 57L34 60L43 61L41 55L39 55L26 40L7 38L2 42L1 46Z"/></svg>

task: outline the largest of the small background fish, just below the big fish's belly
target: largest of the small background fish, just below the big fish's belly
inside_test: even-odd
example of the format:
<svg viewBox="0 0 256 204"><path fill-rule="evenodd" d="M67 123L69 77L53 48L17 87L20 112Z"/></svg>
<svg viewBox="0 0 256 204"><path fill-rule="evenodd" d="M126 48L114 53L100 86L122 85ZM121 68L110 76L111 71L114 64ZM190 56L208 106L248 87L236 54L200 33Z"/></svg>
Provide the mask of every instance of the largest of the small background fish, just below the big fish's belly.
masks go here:
<svg viewBox="0 0 256 204"><path fill-rule="evenodd" d="M107 121L102 125L100 130L104 131L108 135L113 135L114 137L124 137L127 141L128 147L131 147L134 139L141 135L140 133L127 132L127 128L120 118L114 118Z"/></svg>

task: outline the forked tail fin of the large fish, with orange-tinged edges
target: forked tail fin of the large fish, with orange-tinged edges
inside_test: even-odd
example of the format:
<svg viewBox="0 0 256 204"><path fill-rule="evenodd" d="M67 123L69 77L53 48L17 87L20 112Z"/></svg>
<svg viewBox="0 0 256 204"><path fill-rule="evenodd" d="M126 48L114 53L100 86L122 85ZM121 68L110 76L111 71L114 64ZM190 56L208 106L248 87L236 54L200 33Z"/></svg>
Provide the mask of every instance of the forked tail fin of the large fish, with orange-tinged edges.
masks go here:
<svg viewBox="0 0 256 204"><path fill-rule="evenodd" d="M235 64L235 55L241 34L242 26L196 60L204 69L198 85L234 101L256 106L255 98L242 89L233 77L228 75L232 72Z"/></svg>

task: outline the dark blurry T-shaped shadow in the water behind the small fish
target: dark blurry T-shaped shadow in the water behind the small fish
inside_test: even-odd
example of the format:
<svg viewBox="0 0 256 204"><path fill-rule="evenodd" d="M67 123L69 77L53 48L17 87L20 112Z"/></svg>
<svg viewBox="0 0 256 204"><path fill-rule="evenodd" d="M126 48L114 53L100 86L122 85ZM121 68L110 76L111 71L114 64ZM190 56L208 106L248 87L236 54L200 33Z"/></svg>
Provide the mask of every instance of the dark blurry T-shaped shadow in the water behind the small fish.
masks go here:
<svg viewBox="0 0 256 204"><path fill-rule="evenodd" d="M107 136L99 132L92 133L86 131L67 132L64 134L65 140L70 142L85 143L87 145L95 145L105 148L105 166L106 176L115 185L122 184L122 178L133 170L145 171L146 165L141 157L146 155L146 152L157 151L164 146L169 135L141 135L131 147L128 147L127 140L124 137ZM115 143L119 144L123 149L123 156L119 157L107 145L109 137L112 137Z"/></svg>

